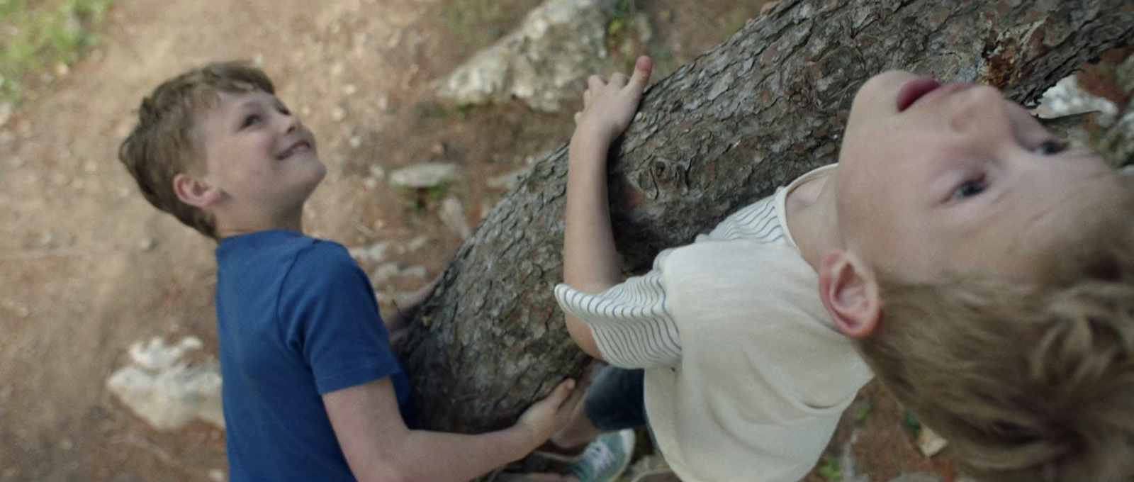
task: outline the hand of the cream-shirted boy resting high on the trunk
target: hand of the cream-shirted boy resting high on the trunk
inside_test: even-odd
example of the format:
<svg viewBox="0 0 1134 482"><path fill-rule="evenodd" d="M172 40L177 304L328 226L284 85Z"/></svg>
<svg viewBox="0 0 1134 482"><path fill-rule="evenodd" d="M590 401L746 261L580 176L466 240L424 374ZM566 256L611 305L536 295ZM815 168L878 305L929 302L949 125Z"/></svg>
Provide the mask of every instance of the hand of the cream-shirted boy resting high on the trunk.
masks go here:
<svg viewBox="0 0 1134 482"><path fill-rule="evenodd" d="M610 76L609 81L592 75L586 79L583 93L583 111L575 112L575 134L594 136L600 141L613 141L634 120L642 91L650 81L653 60L638 57L634 74L626 78L623 74Z"/></svg>

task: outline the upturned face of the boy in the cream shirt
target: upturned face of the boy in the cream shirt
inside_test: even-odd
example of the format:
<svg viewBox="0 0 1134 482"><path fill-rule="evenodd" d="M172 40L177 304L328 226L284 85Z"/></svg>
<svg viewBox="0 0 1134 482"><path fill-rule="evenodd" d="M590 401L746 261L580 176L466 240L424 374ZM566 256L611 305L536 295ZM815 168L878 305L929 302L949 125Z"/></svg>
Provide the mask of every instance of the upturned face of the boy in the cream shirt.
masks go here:
<svg viewBox="0 0 1134 482"><path fill-rule="evenodd" d="M1124 188L1100 158L1064 149L996 88L905 71L858 91L839 164L845 247L909 280L1036 279L1057 237Z"/></svg>

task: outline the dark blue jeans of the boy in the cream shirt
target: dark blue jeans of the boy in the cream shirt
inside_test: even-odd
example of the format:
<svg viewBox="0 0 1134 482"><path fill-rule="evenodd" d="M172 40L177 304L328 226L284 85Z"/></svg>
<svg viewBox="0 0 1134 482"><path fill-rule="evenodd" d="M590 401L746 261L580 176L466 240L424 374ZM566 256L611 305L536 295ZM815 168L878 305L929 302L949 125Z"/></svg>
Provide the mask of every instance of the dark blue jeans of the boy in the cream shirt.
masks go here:
<svg viewBox="0 0 1134 482"><path fill-rule="evenodd" d="M646 425L644 370L603 366L591 381L583 412L599 430L615 431Z"/></svg>

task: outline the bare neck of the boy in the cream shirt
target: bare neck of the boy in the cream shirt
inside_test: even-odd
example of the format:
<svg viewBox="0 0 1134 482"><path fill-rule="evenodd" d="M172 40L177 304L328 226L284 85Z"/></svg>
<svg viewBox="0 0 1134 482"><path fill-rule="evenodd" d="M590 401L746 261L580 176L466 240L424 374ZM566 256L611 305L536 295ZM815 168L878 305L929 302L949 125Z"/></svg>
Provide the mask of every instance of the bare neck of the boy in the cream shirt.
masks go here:
<svg viewBox="0 0 1134 482"><path fill-rule="evenodd" d="M835 186L838 172L807 181L788 193L787 221L804 261L816 272L823 256L843 247Z"/></svg>

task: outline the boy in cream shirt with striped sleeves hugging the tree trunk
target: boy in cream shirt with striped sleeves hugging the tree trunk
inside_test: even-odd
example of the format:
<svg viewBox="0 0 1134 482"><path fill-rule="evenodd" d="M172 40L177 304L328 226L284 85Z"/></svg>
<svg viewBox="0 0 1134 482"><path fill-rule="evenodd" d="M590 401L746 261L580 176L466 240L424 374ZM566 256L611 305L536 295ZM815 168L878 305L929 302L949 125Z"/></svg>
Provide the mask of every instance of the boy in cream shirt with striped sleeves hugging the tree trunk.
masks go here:
<svg viewBox="0 0 1134 482"><path fill-rule="evenodd" d="M651 66L643 57L629 78L592 76L576 115L556 297L573 339L613 366L555 446L649 425L684 481L796 481L873 369L976 470L1031 480L1125 474L1115 457L1091 460L1129 455L1128 430L1068 422L1076 405L1060 397L1074 384L1106 394L1107 408L1125 398L1083 387L1082 377L1035 374L1073 372L1080 358L1112 350L1030 352L1041 340L1081 339L1068 331L1081 322L1067 306L1106 314L1091 321L1114 330L1129 324L1112 306L1134 303L1131 278L1098 265L1134 273L1119 262L1128 247L1111 248L1129 246L1134 204L1098 157L1067 150L992 87L883 73L855 96L839 164L624 280L606 159ZM1075 290L1095 282L1110 284L1110 298ZM1044 304L1064 297L1070 304ZM1126 360L1093 361L1106 375L1090 380L1129 379ZM1076 445L1078 436L1102 441Z"/></svg>

